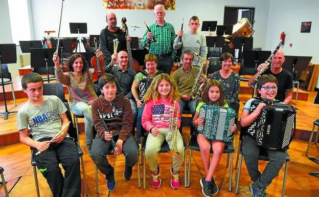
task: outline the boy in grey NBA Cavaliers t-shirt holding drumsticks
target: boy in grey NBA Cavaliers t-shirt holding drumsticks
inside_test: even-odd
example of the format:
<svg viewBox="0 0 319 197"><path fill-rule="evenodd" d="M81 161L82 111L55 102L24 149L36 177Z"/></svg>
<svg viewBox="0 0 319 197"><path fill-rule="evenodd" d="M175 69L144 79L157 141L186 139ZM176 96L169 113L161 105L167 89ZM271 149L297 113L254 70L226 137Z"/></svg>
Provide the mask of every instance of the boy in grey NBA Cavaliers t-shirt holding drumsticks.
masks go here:
<svg viewBox="0 0 319 197"><path fill-rule="evenodd" d="M17 114L20 142L31 146L36 165L47 179L54 197L81 196L80 161L77 147L67 131L69 123L63 102L57 96L43 96L43 79L38 73L25 74L22 90L28 101ZM61 128L65 129L53 139ZM31 129L32 139L29 137ZM39 155L35 155L40 151ZM59 163L65 170L65 177Z"/></svg>

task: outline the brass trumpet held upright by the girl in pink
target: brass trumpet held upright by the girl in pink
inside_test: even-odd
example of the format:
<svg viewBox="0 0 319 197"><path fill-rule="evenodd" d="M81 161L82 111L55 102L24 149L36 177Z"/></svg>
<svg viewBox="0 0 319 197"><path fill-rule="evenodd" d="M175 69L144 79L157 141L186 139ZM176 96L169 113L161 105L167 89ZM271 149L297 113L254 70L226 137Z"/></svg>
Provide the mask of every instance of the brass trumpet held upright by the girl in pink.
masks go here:
<svg viewBox="0 0 319 197"><path fill-rule="evenodd" d="M169 120L169 130L167 134L167 143L173 152L174 155L178 155L179 152L177 151L177 146L176 146L176 139L177 139L177 132L178 131L178 111L177 111L177 116L174 118L175 114L175 104L176 101L174 102L174 108L173 108L173 113L171 115L171 118Z"/></svg>

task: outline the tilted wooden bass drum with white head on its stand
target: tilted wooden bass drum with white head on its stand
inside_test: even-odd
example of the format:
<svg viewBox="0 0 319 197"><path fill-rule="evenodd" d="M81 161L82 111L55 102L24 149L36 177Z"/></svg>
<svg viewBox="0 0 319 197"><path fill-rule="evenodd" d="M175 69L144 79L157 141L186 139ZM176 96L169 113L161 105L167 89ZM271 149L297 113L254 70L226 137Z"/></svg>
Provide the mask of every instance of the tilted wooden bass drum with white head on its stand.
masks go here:
<svg viewBox="0 0 319 197"><path fill-rule="evenodd" d="M231 48L234 48L232 41L234 37L252 37L254 33L254 29L252 24L249 23L247 18L240 19L233 27L233 34L227 36L227 39L231 41L229 43Z"/></svg>

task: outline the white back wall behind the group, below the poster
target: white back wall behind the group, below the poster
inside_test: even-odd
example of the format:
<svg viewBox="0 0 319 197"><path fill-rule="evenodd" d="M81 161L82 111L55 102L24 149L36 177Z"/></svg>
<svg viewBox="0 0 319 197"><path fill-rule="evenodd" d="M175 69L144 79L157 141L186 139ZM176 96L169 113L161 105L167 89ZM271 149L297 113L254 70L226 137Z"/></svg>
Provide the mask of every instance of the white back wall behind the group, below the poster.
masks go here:
<svg viewBox="0 0 319 197"><path fill-rule="evenodd" d="M45 34L45 30L55 30L58 32L61 1L57 0L31 0L33 12L33 30L34 38L41 39ZM269 0L254 1L254 0L176 0L176 10L166 12L166 21L173 24L175 31L180 30L181 18L185 18L184 30L188 30L188 19L197 15L200 21L217 20L217 25L223 25L224 7L225 6L240 6L254 7L255 10L255 34L254 47L264 47L266 38L266 28L268 23ZM146 27L144 20L148 25L154 23L155 18L152 10L110 10L115 12L118 18L118 26L121 26L121 18L127 18L127 26L131 36L142 37ZM79 22L87 23L88 36L89 34L100 34L105 28L105 15L109 10L104 10L102 0L67 0L64 1L62 14L62 24L60 30L61 37L77 37L75 34L70 34L69 23ZM133 32L130 26L138 26ZM206 35L208 32L203 32ZM57 36L57 33L52 34Z"/></svg>

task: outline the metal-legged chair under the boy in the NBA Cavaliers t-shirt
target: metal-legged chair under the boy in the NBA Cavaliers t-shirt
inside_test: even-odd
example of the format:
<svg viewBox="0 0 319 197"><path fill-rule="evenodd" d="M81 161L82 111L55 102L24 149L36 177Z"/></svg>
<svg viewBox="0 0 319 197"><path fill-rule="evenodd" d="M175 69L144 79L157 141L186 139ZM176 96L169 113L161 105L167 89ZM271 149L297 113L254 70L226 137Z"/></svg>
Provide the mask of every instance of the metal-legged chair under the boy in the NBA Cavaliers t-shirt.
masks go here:
<svg viewBox="0 0 319 197"><path fill-rule="evenodd" d="M69 103L63 102L63 104L67 108L66 116L71 121L68 133L69 133L70 137L72 137L74 139L74 141L75 141L75 143L77 145L78 155L80 157L80 162L81 162L81 167L82 167L82 172L83 172L83 182L84 182L85 194L86 194L86 196L88 196L87 184L86 184L86 176L85 176L85 168L84 168L84 162L83 162L83 151L82 151L80 145L77 143L78 142L78 135L76 134L76 130L75 130L74 126L73 126ZM30 135L30 137L32 138L31 135ZM36 172L36 161L35 161L34 155L32 154L32 148L31 148L31 165L32 165L32 168L33 168L33 174L34 174L34 181L35 181L37 197L40 197L38 177L37 177L37 172Z"/></svg>

